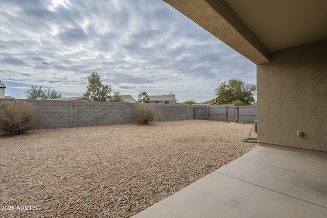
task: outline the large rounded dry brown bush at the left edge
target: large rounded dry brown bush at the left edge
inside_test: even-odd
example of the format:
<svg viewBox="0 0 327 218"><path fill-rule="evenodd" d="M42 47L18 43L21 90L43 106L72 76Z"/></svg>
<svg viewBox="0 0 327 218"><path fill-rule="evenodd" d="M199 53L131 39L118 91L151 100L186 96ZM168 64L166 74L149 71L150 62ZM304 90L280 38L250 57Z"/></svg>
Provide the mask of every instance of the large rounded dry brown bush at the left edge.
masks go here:
<svg viewBox="0 0 327 218"><path fill-rule="evenodd" d="M29 102L0 102L0 132L8 135L19 135L40 123L38 107Z"/></svg>

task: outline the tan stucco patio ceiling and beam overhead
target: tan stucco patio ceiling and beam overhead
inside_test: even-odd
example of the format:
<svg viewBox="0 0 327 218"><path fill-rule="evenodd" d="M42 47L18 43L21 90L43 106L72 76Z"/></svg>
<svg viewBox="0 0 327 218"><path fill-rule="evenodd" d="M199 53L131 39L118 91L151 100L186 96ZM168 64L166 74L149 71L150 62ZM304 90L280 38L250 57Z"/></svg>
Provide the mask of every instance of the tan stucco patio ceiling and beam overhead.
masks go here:
<svg viewBox="0 0 327 218"><path fill-rule="evenodd" d="M255 64L327 38L326 0L164 0Z"/></svg>

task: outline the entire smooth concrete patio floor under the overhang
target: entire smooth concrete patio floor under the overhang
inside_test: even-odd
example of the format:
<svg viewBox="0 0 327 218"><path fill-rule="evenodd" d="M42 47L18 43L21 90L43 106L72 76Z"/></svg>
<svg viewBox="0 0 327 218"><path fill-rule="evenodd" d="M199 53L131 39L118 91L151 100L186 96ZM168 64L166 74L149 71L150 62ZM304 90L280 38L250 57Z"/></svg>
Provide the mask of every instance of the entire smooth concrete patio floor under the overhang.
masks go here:
<svg viewBox="0 0 327 218"><path fill-rule="evenodd" d="M133 216L327 217L327 155L259 146Z"/></svg>

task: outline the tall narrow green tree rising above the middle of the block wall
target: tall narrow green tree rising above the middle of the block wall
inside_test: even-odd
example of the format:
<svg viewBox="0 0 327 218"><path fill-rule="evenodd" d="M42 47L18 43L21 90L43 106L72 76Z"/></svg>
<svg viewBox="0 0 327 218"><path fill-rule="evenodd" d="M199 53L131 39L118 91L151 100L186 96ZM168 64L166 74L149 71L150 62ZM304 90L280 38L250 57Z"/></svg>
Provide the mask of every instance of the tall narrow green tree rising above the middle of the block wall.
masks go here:
<svg viewBox="0 0 327 218"><path fill-rule="evenodd" d="M92 72L87 80L88 86L84 96L96 102L105 102L110 98L111 84L103 85L98 72Z"/></svg>

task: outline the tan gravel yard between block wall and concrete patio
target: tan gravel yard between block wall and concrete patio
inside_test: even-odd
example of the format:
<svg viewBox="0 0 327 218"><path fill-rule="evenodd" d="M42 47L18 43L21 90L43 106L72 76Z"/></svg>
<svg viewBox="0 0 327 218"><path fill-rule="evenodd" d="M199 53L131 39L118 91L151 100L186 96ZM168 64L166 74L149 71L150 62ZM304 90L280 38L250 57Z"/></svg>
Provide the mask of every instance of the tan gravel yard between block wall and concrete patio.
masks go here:
<svg viewBox="0 0 327 218"><path fill-rule="evenodd" d="M0 136L0 217L130 217L253 149L250 129L181 120Z"/></svg>

